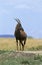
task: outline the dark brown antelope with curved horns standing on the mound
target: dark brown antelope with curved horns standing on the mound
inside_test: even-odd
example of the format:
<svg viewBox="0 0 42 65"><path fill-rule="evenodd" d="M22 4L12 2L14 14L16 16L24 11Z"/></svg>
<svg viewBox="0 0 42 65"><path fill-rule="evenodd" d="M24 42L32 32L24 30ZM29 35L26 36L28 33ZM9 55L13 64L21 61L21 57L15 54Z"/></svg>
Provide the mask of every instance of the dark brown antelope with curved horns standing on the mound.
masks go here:
<svg viewBox="0 0 42 65"><path fill-rule="evenodd" d="M20 20L17 18L15 19L17 22L16 28L15 28L15 38L16 38L16 44L17 44L17 50L18 50L18 41L19 41L19 45L20 45L20 50L21 50L21 45L22 45L22 50L24 50L24 46L26 43L26 39L27 39L27 35L24 32L24 29L21 25Z"/></svg>

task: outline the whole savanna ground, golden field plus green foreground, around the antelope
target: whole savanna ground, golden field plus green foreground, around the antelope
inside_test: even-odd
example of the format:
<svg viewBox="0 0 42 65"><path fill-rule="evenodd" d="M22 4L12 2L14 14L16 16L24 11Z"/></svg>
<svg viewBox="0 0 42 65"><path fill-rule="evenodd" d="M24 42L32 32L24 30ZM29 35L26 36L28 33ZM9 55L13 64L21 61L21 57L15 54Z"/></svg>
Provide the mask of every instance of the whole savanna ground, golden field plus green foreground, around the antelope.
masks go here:
<svg viewBox="0 0 42 65"><path fill-rule="evenodd" d="M42 39L27 39L24 51L42 51ZM16 52L14 38L0 38L0 65L42 65L42 54Z"/></svg>

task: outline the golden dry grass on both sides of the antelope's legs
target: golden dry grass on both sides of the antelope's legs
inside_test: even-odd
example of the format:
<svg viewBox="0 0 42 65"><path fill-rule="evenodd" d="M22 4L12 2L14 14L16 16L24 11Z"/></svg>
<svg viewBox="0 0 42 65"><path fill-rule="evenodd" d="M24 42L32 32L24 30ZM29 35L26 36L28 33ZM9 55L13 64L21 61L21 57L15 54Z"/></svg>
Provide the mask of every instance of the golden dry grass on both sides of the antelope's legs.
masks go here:
<svg viewBox="0 0 42 65"><path fill-rule="evenodd" d="M25 50L32 47L42 46L42 39L27 39ZM14 38L0 38L0 50L16 50Z"/></svg>

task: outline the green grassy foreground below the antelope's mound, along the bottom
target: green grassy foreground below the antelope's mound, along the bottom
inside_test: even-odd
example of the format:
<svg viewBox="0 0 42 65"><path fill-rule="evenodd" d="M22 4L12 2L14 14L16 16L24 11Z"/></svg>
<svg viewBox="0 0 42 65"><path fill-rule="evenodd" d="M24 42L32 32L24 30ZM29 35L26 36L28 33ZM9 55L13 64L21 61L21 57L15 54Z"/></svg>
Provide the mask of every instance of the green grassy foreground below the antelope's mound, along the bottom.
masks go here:
<svg viewBox="0 0 42 65"><path fill-rule="evenodd" d="M18 56L7 51L0 54L0 65L42 65L42 55Z"/></svg>

